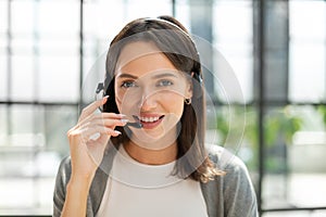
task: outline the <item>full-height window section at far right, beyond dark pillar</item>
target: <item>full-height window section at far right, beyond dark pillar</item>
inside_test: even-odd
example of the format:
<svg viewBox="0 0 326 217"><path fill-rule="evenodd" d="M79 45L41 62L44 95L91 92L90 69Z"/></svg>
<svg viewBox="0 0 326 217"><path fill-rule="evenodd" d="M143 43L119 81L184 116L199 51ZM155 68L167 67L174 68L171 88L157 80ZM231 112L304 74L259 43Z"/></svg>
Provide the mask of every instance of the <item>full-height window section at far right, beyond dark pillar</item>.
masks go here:
<svg viewBox="0 0 326 217"><path fill-rule="evenodd" d="M267 4L271 11L284 12L278 18L288 13L288 81L285 84L288 88L286 95L266 100L262 208L267 212L263 216L285 215L275 209L291 210L288 216L323 216L325 212L317 209L326 206L322 196L326 192L323 164L326 156L323 105L326 4L300 0L271 2ZM271 14L266 15L267 22L268 18L272 20ZM297 208L306 210L296 212Z"/></svg>

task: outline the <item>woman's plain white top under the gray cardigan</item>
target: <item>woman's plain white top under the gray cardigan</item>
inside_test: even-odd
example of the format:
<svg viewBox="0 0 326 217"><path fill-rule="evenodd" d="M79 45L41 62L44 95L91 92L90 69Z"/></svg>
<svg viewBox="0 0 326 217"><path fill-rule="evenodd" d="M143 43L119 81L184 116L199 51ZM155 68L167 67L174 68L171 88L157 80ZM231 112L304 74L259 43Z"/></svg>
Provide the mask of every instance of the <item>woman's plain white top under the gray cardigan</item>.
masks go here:
<svg viewBox="0 0 326 217"><path fill-rule="evenodd" d="M97 217L208 217L200 182L172 176L174 165L141 164L121 145Z"/></svg>

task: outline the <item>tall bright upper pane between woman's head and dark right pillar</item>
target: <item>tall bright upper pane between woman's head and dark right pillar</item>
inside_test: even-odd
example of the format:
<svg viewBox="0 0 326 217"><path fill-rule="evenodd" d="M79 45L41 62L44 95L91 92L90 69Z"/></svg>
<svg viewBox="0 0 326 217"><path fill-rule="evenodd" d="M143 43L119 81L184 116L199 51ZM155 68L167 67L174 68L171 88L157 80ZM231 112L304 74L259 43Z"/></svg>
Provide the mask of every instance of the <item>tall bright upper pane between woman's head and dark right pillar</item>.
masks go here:
<svg viewBox="0 0 326 217"><path fill-rule="evenodd" d="M214 47L218 51L218 54L215 53L215 55L222 55L226 59L233 74L235 74L236 82L240 84L244 101L251 101L253 94L252 3L250 1L215 1L213 14ZM242 26L241 31L239 31L238 26ZM221 59L218 60L217 56L215 59L214 71L218 72L216 77L224 80L222 85L230 86L235 81L226 78L224 74L228 73L225 72L225 66L221 64ZM237 101L238 97L233 95L231 92L227 93L229 99L225 99L223 95L225 93L221 92L220 88L216 88L216 92L223 101Z"/></svg>

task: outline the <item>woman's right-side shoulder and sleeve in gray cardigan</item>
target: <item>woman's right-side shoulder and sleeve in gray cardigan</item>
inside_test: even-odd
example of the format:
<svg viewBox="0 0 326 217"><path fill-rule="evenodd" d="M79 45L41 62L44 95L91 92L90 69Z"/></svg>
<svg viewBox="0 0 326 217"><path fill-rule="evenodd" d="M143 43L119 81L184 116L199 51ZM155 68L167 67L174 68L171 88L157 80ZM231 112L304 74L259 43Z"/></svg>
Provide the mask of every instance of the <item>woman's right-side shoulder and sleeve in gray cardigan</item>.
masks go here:
<svg viewBox="0 0 326 217"><path fill-rule="evenodd" d="M208 184L206 194L215 189L218 199L215 195L210 196L220 201L222 209L230 216L258 216L255 192L244 163L218 145L210 145L209 155L217 169L225 171L225 175L216 177Z"/></svg>

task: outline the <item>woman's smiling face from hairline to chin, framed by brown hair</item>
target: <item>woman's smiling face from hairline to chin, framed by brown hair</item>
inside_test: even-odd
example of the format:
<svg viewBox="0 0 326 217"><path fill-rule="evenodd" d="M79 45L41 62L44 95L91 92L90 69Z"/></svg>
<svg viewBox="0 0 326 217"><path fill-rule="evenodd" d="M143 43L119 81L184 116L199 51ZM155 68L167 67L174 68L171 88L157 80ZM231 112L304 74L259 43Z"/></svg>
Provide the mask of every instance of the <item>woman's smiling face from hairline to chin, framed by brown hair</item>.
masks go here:
<svg viewBox="0 0 326 217"><path fill-rule="evenodd" d="M190 84L153 43L125 46L116 64L114 88L118 111L142 124L141 129L130 128L131 140L147 148L159 140L166 145L175 142L184 100L192 95Z"/></svg>

